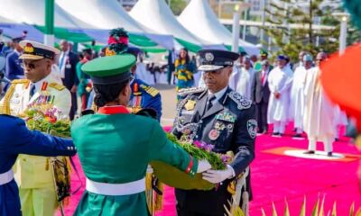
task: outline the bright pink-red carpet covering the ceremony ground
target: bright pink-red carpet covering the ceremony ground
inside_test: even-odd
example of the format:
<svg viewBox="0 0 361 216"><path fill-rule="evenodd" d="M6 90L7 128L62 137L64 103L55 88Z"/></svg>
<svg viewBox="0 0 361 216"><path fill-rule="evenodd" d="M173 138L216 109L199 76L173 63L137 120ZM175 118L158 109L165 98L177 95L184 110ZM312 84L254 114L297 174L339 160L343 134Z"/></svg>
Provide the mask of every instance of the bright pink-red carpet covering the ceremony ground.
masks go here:
<svg viewBox="0 0 361 216"><path fill-rule="evenodd" d="M261 208L267 215L272 215L274 202L279 215L283 214L284 199L287 198L292 215L298 215L303 197L307 197L307 214L310 215L318 196L326 195L325 215L331 209L333 202L337 202L338 215L348 215L352 202L356 202L356 209L361 207L361 196L357 184L356 169L358 165L356 148L341 139L334 143L334 151L348 154L349 160L335 161L307 159L282 155L284 148L307 148L307 140L292 139L291 137L275 138L268 135L256 139L256 158L252 164L252 188L254 201L250 204L250 215L262 215ZM322 150L323 145L319 144ZM281 152L281 153L280 153ZM76 159L79 171L79 160ZM85 178L81 173L83 188ZM78 178L72 175L72 188L80 185ZM65 208L66 215L75 210L81 193L74 194L69 206ZM175 201L173 190L166 187L163 210L158 216L174 216Z"/></svg>

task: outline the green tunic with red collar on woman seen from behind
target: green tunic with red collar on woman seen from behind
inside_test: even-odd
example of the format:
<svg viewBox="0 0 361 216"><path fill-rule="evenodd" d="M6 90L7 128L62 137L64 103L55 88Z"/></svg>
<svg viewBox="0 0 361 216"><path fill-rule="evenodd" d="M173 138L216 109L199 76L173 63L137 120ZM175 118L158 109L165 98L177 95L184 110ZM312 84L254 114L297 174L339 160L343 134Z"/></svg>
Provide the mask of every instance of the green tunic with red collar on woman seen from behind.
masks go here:
<svg viewBox="0 0 361 216"><path fill-rule="evenodd" d="M74 121L71 135L84 173L94 182L125 184L142 179L152 160L180 170L187 170L193 160L191 175L198 167L197 160L169 141L151 118L119 112L86 115ZM74 215L148 215L145 193L112 196L85 191Z"/></svg>

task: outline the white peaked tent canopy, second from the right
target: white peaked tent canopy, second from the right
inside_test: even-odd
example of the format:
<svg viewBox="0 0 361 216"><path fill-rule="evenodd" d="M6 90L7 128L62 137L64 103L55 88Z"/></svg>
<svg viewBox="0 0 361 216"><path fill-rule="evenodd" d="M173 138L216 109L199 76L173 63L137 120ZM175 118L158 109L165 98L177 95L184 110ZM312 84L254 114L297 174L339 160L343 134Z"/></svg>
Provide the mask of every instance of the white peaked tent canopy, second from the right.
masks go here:
<svg viewBox="0 0 361 216"><path fill-rule="evenodd" d="M201 47L209 44L185 29L174 17L164 0L139 0L129 13L145 27L162 34L172 34L176 39ZM194 21L193 21L194 22ZM183 44L182 44L183 45Z"/></svg>

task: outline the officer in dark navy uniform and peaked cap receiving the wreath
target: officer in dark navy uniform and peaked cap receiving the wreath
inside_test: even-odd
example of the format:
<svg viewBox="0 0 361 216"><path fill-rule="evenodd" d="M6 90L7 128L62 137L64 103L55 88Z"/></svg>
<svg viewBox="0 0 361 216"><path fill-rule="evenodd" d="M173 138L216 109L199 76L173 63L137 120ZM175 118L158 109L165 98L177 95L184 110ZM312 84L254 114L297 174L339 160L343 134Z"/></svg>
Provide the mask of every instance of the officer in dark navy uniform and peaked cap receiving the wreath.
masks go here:
<svg viewBox="0 0 361 216"><path fill-rule="evenodd" d="M204 72L206 89L191 88L180 92L177 116L172 133L190 141L212 144L214 152L235 155L226 170L208 170L203 179L218 184L211 191L176 189L178 216L225 215L224 205L232 202L229 183L243 173L255 158L255 105L228 87L234 52L202 49L199 51L199 70ZM251 195L249 175L247 192Z"/></svg>

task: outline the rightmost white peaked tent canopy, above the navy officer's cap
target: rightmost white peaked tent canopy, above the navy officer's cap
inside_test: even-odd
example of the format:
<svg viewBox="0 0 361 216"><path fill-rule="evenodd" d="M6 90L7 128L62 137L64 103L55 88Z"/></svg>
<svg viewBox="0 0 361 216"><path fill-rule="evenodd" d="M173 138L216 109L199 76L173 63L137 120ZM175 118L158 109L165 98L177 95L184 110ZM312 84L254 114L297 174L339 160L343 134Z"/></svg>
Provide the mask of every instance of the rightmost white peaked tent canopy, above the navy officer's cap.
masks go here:
<svg viewBox="0 0 361 216"><path fill-rule="evenodd" d="M195 18L197 20L195 20ZM219 23L216 14L208 4L208 0L191 0L190 4L178 17L178 21L199 38L214 44L232 44L232 33ZM252 43L239 40L239 46L249 55L258 55L259 49Z"/></svg>

